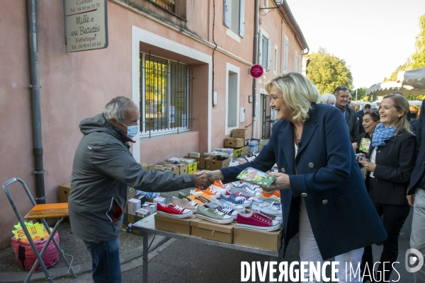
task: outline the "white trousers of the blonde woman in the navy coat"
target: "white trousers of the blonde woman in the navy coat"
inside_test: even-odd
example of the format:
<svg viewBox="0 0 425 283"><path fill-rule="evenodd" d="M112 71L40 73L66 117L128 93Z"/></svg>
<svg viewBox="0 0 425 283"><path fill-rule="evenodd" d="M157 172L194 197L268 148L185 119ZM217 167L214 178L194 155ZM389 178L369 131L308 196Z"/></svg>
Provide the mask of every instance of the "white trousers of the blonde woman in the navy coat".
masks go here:
<svg viewBox="0 0 425 283"><path fill-rule="evenodd" d="M324 260L322 255L320 255L319 248L317 247L316 239L314 238L312 226L310 225L310 219L308 219L307 209L305 209L305 202L301 200L300 204L300 260L308 262L317 262L322 267ZM343 253L342 255L336 255L335 261L339 262L339 265L336 265L338 268L338 273L336 277L339 279L339 282L362 282L361 281L361 271L360 263L361 257L363 255L363 248L358 248L356 250L351 250L348 253ZM316 267L317 267L316 264ZM353 269L350 268L353 267ZM348 269L346 269L348 267ZM308 279L308 276L305 276ZM322 277L323 278L323 277ZM319 282L316 281L309 282Z"/></svg>

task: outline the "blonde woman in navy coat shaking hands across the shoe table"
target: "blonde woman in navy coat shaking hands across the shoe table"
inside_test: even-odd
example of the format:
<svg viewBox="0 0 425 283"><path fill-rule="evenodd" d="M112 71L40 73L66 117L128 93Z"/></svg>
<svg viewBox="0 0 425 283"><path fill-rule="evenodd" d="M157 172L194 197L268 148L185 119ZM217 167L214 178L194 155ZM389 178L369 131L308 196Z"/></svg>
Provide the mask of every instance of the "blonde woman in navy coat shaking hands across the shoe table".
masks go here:
<svg viewBox="0 0 425 283"><path fill-rule="evenodd" d="M359 274L346 270L346 262L358 266L363 247L387 234L365 190L341 111L317 104L317 88L297 72L268 81L266 91L279 121L259 156L201 173L229 183L244 168L266 172L277 163L280 173L270 173L277 180L265 191L280 190L283 253L299 232L300 260L319 265L335 257L340 282L346 276L361 282Z"/></svg>

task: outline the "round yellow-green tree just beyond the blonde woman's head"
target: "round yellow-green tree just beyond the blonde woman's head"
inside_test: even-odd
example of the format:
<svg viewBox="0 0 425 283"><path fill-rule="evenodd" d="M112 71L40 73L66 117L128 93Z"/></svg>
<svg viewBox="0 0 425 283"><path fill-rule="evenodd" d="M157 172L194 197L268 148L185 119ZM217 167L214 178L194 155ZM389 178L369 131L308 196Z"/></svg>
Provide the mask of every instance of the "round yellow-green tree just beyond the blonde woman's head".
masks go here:
<svg viewBox="0 0 425 283"><path fill-rule="evenodd" d="M307 78L317 86L321 94L333 93L337 86L353 88L353 76L343 59L327 53L322 47L319 47L317 53L307 57L310 59Z"/></svg>

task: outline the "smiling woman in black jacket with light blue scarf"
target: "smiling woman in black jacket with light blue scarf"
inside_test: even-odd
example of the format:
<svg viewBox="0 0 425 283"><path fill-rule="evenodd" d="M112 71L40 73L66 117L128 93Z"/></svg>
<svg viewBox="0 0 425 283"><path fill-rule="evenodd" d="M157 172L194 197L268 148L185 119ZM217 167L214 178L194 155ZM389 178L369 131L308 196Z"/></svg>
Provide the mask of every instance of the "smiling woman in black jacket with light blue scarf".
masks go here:
<svg viewBox="0 0 425 283"><path fill-rule="evenodd" d="M377 272L381 281L390 278L398 255L399 232L410 211L406 192L416 161L416 139L410 131L407 110L409 103L403 96L390 94L382 99L380 124L373 132L369 148L370 162L360 162L368 171L366 187L388 234L379 260L387 264L385 267L381 263ZM371 246L365 247L363 261L369 268L373 267Z"/></svg>

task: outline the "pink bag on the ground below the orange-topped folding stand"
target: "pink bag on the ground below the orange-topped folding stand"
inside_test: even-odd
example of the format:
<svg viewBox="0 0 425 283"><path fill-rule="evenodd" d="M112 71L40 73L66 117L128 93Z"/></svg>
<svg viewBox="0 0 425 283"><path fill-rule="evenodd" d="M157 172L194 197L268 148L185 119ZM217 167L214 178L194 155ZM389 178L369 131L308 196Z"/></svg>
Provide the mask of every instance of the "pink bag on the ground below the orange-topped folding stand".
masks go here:
<svg viewBox="0 0 425 283"><path fill-rule="evenodd" d="M55 238L55 240L59 244L59 234L57 233L57 231L55 233L55 236L53 236L53 238ZM38 253L41 252L42 247L45 246L46 241L47 241L47 238L45 240L34 241L34 244L38 250ZM15 251L16 263L20 267L22 267L24 270L29 272L31 268L33 268L35 260L37 260L33 252L33 249L31 248L30 243L28 241L21 241L15 237L12 237L11 246L13 250ZM57 251L55 244L53 243L53 240L50 241L49 246L47 247L47 250L42 256L42 261L45 263L47 268L52 267L57 262L59 262L59 252ZM42 271L42 268L39 264L38 267L35 269L35 272L40 272L40 271Z"/></svg>

